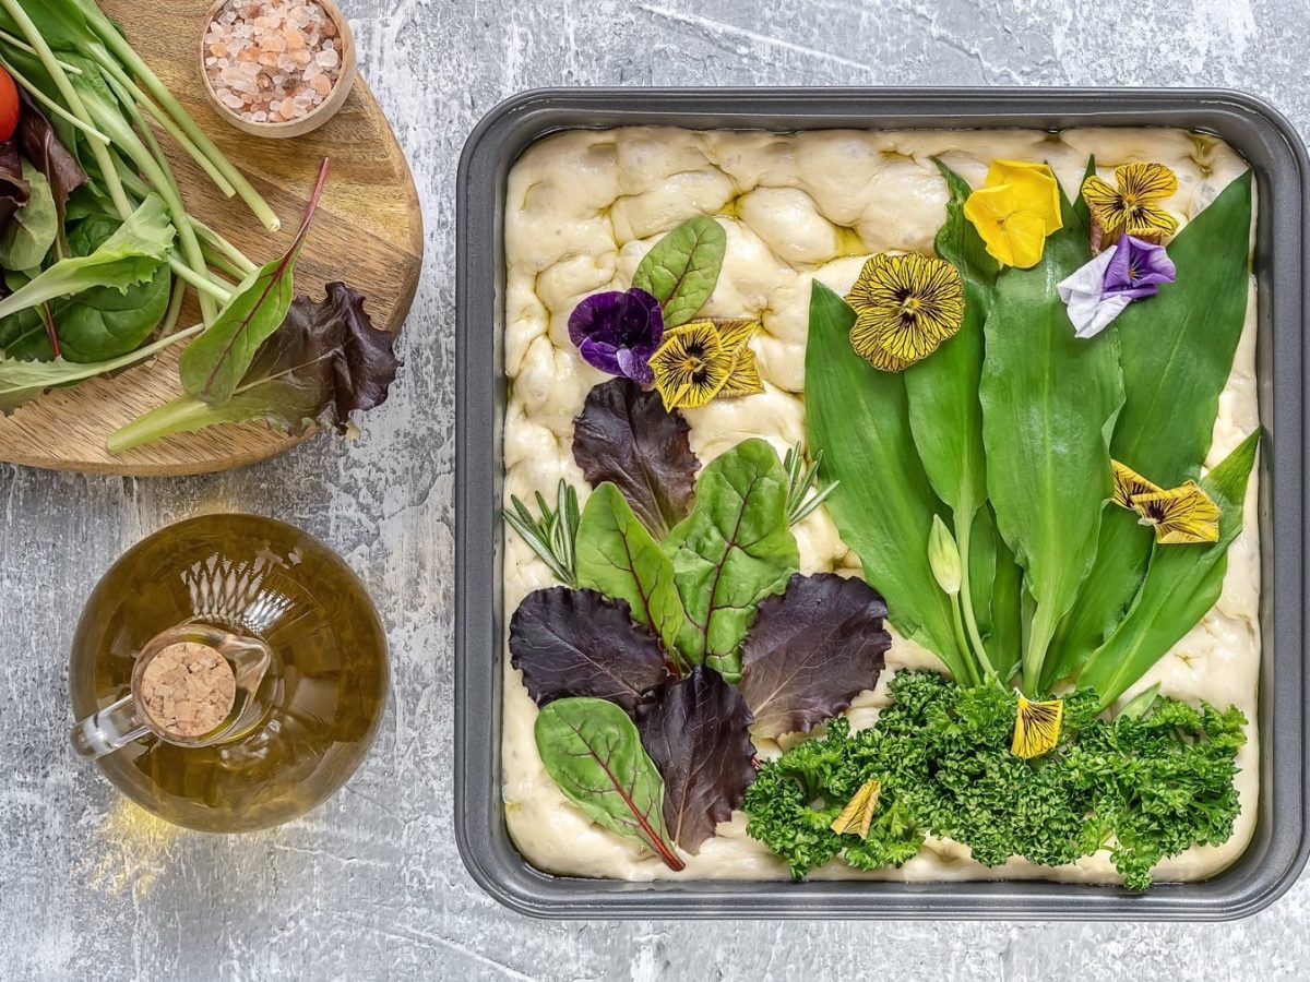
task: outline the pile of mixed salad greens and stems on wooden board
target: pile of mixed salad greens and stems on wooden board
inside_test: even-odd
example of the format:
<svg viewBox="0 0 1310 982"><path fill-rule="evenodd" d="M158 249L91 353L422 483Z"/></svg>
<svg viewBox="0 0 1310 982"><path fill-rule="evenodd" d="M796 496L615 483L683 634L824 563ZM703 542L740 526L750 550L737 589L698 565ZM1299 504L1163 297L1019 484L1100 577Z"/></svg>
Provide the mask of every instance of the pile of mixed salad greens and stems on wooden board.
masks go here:
<svg viewBox="0 0 1310 982"><path fill-rule="evenodd" d="M296 299L292 249L258 266L189 215L166 134L267 229L279 220L94 0L0 0L0 411L185 340L186 395L130 424L113 453L262 419L288 432L386 397L398 363L363 297ZM187 292L200 323L178 330ZM286 334L286 336L282 336Z"/></svg>

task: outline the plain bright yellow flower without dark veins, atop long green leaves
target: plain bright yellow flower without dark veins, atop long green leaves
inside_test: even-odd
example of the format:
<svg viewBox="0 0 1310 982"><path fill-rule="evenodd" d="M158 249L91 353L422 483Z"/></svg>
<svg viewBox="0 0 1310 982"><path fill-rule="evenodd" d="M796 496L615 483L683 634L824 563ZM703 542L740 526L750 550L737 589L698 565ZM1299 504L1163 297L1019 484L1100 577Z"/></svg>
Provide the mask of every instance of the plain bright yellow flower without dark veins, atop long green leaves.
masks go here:
<svg viewBox="0 0 1310 982"><path fill-rule="evenodd" d="M997 262L1031 268L1041 262L1047 236L1064 225L1060 182L1045 164L992 161L984 186L964 202L964 217Z"/></svg>

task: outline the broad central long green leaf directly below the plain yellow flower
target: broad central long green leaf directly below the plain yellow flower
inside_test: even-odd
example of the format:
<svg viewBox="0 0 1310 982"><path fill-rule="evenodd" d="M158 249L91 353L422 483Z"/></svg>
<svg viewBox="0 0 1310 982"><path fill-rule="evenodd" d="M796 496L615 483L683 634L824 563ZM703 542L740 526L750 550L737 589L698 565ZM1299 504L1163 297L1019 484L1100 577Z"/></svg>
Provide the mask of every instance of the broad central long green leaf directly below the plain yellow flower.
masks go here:
<svg viewBox="0 0 1310 982"><path fill-rule="evenodd" d="M1036 601L1023 652L1030 695L1096 555L1111 495L1108 439L1124 402L1116 333L1076 338L1056 293L1090 258L1086 228L1062 192L1061 207L1064 228L1041 262L997 280L979 390L997 525Z"/></svg>

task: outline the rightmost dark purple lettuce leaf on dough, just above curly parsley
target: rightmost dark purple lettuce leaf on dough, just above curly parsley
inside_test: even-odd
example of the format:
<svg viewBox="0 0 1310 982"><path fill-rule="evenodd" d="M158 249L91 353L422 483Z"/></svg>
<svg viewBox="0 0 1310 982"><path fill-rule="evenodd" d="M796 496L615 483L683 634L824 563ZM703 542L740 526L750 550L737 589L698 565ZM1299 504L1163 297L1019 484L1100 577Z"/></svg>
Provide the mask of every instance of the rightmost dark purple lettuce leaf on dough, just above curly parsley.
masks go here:
<svg viewBox="0 0 1310 982"><path fill-rule="evenodd" d="M741 695L756 736L808 732L878 685L891 635L887 604L863 580L791 577L761 601L741 646Z"/></svg>

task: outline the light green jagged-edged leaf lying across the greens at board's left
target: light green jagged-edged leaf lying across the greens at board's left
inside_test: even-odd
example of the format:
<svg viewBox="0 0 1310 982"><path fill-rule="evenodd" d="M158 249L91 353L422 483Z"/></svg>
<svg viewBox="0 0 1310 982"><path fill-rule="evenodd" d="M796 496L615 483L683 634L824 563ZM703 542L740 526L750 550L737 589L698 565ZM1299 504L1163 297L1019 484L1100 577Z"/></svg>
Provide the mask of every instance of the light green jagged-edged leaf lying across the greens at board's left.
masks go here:
<svg viewBox="0 0 1310 982"><path fill-rule="evenodd" d="M145 283L168 259L174 234L164 202L152 194L90 255L60 259L0 300L0 318L94 287L124 292Z"/></svg>

